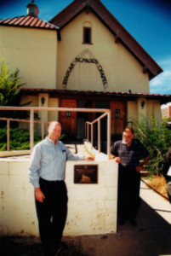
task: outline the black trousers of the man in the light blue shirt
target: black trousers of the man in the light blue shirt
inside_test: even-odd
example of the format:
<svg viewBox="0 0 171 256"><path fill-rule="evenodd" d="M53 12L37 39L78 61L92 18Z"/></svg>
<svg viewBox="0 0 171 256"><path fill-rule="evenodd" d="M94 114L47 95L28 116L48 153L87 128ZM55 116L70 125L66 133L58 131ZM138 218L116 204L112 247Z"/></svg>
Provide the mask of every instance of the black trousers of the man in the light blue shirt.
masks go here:
<svg viewBox="0 0 171 256"><path fill-rule="evenodd" d="M40 188L45 195L43 203L36 200L39 234L44 252L61 241L66 224L67 189L64 181L50 182L40 178Z"/></svg>

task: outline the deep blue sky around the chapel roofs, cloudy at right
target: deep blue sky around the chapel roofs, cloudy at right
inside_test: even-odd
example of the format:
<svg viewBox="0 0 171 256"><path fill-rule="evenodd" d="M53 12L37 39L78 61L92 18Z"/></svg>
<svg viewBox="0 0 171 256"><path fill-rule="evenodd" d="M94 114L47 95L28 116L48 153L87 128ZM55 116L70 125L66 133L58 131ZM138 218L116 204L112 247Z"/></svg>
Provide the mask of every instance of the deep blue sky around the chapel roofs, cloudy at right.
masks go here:
<svg viewBox="0 0 171 256"><path fill-rule="evenodd" d="M162 67L150 92L171 94L171 0L100 0L134 39ZM51 20L72 0L34 0L38 18ZM31 0L0 0L0 19L26 15Z"/></svg>

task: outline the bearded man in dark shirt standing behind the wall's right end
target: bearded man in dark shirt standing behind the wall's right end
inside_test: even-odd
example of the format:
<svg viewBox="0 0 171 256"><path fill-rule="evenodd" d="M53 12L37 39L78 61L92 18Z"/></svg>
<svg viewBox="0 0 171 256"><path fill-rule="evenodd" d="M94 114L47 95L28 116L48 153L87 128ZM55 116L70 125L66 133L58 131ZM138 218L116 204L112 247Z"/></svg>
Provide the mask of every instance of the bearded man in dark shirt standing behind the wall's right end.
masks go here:
<svg viewBox="0 0 171 256"><path fill-rule="evenodd" d="M144 170L150 156L149 152L134 139L134 130L126 128L123 140L111 146L112 157L119 164L118 173L118 218L119 224L125 224L129 219L136 225L136 214L140 207L140 171ZM144 163L140 166L140 159Z"/></svg>

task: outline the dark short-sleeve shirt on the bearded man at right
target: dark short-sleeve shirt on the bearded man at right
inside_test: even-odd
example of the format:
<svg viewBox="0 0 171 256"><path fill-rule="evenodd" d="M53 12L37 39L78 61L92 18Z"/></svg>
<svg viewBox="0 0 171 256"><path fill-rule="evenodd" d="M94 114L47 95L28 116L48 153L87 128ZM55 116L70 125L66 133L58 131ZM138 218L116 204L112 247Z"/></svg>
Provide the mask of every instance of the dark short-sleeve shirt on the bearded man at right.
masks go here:
<svg viewBox="0 0 171 256"><path fill-rule="evenodd" d="M135 168L135 166L140 165L140 159L149 156L148 150L144 147L139 140L133 139L130 147L123 143L123 141L118 141L111 146L111 154L121 158L121 166L126 168Z"/></svg>

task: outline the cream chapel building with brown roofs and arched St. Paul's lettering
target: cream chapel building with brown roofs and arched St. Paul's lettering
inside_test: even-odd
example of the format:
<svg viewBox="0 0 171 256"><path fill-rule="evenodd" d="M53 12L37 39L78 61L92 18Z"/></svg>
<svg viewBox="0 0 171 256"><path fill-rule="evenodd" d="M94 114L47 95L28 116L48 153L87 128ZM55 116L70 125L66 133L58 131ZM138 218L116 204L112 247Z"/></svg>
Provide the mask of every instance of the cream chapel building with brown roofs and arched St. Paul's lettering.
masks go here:
<svg viewBox="0 0 171 256"><path fill-rule="evenodd" d="M32 1L33 2L33 1ZM110 108L111 134L142 116L161 119L169 95L150 94L149 80L162 68L100 0L75 0L46 22L35 3L27 15L0 20L0 56L20 69L22 102L31 106ZM84 137L84 123L96 113L39 113L59 119L71 137ZM106 129L102 122L102 131ZM105 134L105 133L104 133Z"/></svg>

